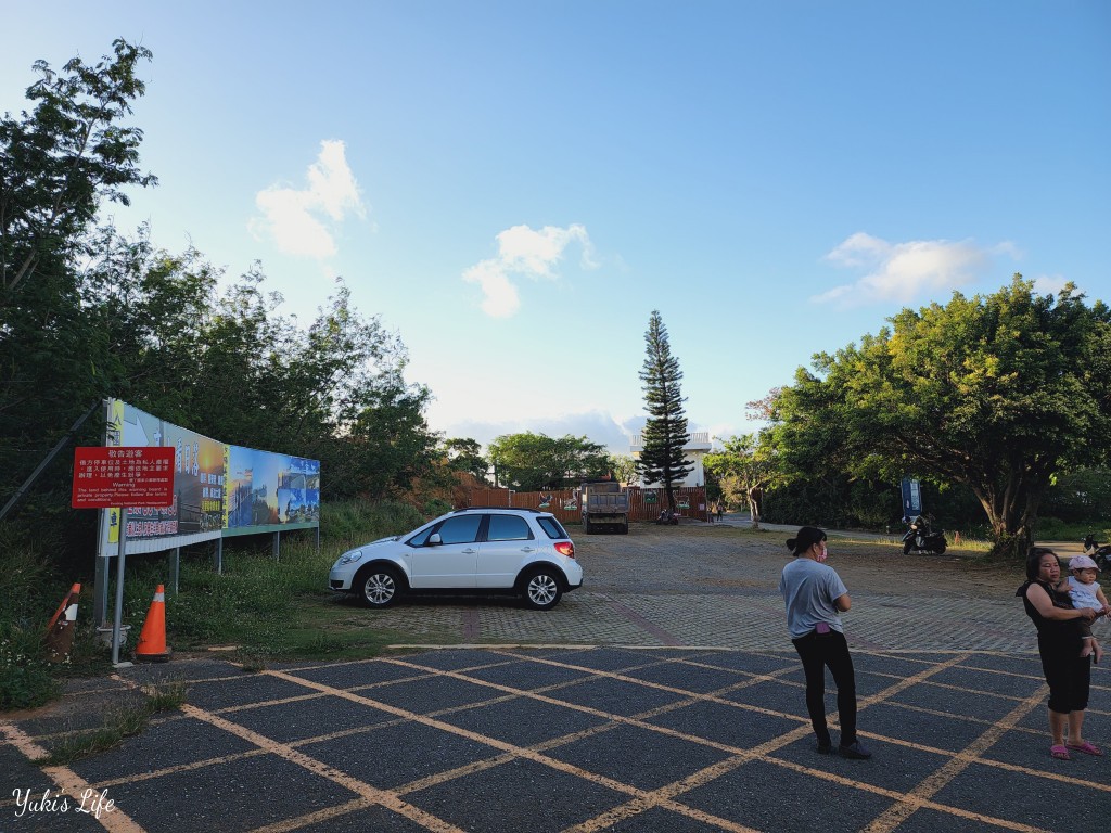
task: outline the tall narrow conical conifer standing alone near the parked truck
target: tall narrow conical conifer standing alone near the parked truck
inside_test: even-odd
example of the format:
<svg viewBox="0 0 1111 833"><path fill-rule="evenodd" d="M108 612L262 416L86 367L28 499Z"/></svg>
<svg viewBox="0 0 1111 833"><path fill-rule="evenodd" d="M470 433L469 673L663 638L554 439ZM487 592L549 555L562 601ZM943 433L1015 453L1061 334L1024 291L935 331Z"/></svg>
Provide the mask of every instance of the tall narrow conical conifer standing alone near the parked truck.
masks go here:
<svg viewBox="0 0 1111 833"><path fill-rule="evenodd" d="M641 432L643 440L637 470L645 483L661 483L668 495L668 508L675 509L674 484L690 474L694 466L687 463L683 446L687 433L687 414L680 383L683 374L679 360L671 354L668 328L659 310L652 310L644 333L647 357L640 372L644 383L644 410L648 421Z"/></svg>

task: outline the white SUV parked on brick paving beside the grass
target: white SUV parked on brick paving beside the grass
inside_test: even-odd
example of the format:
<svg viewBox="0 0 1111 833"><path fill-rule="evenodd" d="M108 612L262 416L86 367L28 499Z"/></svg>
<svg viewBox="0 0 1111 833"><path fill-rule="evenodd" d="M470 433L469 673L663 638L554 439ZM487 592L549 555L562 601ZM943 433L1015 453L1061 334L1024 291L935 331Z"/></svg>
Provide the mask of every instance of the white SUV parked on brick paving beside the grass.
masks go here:
<svg viewBox="0 0 1111 833"><path fill-rule="evenodd" d="M471 506L404 535L340 555L328 586L386 608L409 592L514 593L551 610L582 586L574 543L556 515L534 509Z"/></svg>

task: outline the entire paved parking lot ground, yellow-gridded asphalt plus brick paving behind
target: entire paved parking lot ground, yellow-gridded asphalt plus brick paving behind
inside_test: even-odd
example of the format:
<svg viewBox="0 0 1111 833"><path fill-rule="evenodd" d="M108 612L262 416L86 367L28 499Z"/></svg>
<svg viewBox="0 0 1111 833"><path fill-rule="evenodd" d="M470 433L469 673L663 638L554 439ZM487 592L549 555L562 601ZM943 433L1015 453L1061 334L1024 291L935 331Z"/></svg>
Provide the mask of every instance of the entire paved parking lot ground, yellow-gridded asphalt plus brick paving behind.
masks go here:
<svg viewBox="0 0 1111 833"><path fill-rule="evenodd" d="M773 592L782 542L677 532L577 541L588 585L549 613L367 611L414 638L377 659L244 673L199 658L76 683L68 709L0 722L0 831L937 833L1073 831L1111 813L1107 757L1048 754L1013 575L831 545L874 752L847 761L812 750ZM184 681L187 703L142 735L29 763L81 727L74 705L161 679ZM1085 734L1111 745L1104 669L1093 684ZM20 801L60 789L66 810ZM112 809L78 812L81 795Z"/></svg>

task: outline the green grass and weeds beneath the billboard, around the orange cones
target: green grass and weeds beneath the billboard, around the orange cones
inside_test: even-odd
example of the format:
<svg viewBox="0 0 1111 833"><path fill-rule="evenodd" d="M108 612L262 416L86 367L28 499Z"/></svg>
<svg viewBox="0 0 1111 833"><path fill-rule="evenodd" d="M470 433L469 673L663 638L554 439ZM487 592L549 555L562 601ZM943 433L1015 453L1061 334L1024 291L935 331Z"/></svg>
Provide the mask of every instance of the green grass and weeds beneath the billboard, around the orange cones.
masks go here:
<svg viewBox="0 0 1111 833"><path fill-rule="evenodd" d="M234 644L248 655L327 655L367 645L373 634L330 634L306 615L306 599L317 600L327 612L331 602L328 570L344 550L411 530L427 518L400 502L347 501L321 506L321 545L312 531L284 533L276 560L269 535L224 541L218 574L212 545L182 551L180 593L170 588L166 553L129 555L122 610L131 625L126 655L134 646L150 609L154 589L167 585L167 638L174 651L213 644ZM0 524L0 540L6 530ZM28 709L58 693L58 679L73 673L100 673L109 668L107 651L96 639L92 609L92 564L87 574L51 560L52 545L30 536L12 535L0 563L0 710ZM21 541L21 543L20 543ZM91 561L91 560L90 560ZM116 559L111 559L108 588L116 599ZM46 626L70 585L79 581L82 593L78 633L70 660L46 662ZM317 611L319 612L319 611ZM369 650L369 649L368 649Z"/></svg>

